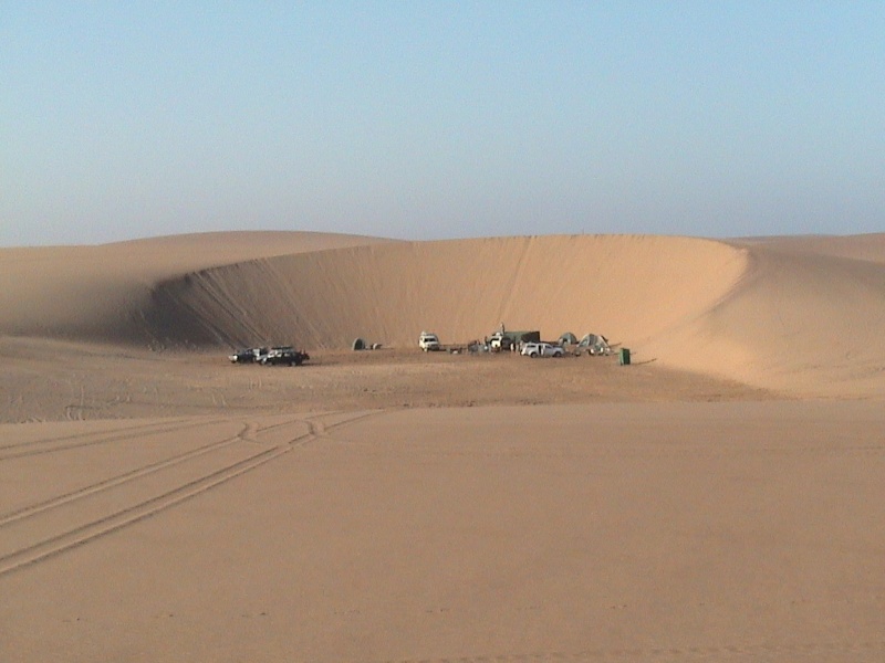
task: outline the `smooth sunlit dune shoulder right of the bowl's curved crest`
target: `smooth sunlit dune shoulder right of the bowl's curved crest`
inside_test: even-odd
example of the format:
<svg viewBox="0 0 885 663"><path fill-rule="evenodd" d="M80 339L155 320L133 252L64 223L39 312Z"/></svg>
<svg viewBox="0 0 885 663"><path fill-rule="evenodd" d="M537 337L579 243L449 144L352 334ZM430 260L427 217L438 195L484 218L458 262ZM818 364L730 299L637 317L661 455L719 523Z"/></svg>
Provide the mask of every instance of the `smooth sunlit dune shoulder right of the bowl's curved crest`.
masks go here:
<svg viewBox="0 0 885 663"><path fill-rule="evenodd" d="M884 240L752 242L731 293L644 351L795 396L885 396Z"/></svg>

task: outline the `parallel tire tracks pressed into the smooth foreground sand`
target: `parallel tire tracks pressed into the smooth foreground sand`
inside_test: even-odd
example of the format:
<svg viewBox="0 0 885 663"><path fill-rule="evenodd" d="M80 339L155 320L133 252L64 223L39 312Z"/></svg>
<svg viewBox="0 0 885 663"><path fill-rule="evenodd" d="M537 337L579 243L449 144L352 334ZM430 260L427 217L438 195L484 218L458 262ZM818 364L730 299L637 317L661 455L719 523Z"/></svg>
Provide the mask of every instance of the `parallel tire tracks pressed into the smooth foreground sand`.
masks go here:
<svg viewBox="0 0 885 663"><path fill-rule="evenodd" d="M88 523L69 529L66 532L49 536L42 540L32 544L27 544L15 550L0 555L0 577L7 573L12 573L14 571L18 571L27 567L31 567L32 565L35 565L40 561L56 557L67 550L79 548L95 539L98 539L101 537L118 532L125 527L128 527L129 525L134 525L146 518L153 517L154 515L157 515L162 512L173 508L191 497L195 497L219 485L222 485L228 481L231 481L238 476L241 476L242 474L246 474L247 472L251 472L252 470L256 470L264 465L266 463L269 463L284 455L293 451L294 449L303 446L311 440L326 436L330 430L347 425L350 423L365 419L367 417L375 415L379 412L381 411L363 412L355 417L347 417L344 420L333 421L332 423L329 424L326 424L323 421L324 418L340 417L341 413L324 413L314 417L308 417L304 419L290 419L287 421L273 423L268 427L258 427L251 422L243 422L242 428L237 435L226 438L223 440L216 442L210 442L198 449L190 450L188 452L184 452L181 454L177 454L175 456L164 459L155 463L150 463L148 465L126 472L124 474L119 474L117 476L103 480L101 482L91 484L90 486L79 488L77 491L72 491L70 493L66 493L65 495L60 495L53 497L52 499L46 499L39 504L33 504L28 507L17 509L15 512L4 514L0 516L0 527L8 526L27 518L39 517L40 515L51 512L54 508L74 503L77 499L83 499L85 497L90 497L98 493L112 491L125 484L136 482L139 478L157 474L159 472L163 472L164 470L169 470L170 467L190 461L195 457L218 452L220 449L230 446L238 442L241 443L251 442L251 443L262 444L260 442L262 433L275 431L292 424L301 424L308 427L306 432L298 434L289 439L284 443L273 444L269 449L263 449L258 453L250 454L248 457L243 460L239 460L232 464L228 464L208 474L202 474L200 476L197 476L181 485L164 491L159 495L140 499L139 502L133 504L132 506L117 509L113 513L103 515L96 519L93 519ZM206 422L198 422L194 423L192 425L205 425L205 424ZM171 430L184 430L186 428L190 428L190 425L181 425L173 428ZM254 440L252 438L254 438ZM84 446L95 443L98 442L92 441L85 444L79 444L77 446ZM40 452L40 453L48 453L48 452Z"/></svg>

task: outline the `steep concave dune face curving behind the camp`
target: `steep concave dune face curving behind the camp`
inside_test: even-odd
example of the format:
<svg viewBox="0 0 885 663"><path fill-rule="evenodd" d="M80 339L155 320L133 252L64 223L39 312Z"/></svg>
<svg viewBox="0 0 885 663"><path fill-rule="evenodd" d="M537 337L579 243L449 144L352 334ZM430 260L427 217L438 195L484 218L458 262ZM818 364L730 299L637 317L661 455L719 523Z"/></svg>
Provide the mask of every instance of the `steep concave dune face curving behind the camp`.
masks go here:
<svg viewBox="0 0 885 663"><path fill-rule="evenodd" d="M279 256L167 284L165 311L207 323L200 340L291 337L347 347L355 336L414 346L423 329L464 343L511 329L555 339L603 329L618 341L699 315L745 270L704 240L532 236L403 243Z"/></svg>

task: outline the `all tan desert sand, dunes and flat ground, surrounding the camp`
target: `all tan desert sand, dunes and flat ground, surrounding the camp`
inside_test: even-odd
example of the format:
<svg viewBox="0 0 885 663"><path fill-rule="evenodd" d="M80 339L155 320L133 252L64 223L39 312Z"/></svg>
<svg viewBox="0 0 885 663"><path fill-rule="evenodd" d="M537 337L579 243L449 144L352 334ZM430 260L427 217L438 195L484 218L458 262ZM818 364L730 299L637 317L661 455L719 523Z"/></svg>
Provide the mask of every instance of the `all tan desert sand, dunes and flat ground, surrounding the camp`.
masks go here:
<svg viewBox="0 0 885 663"><path fill-rule="evenodd" d="M882 661L884 304L885 235L0 249L0 660ZM416 346L502 323L633 364Z"/></svg>

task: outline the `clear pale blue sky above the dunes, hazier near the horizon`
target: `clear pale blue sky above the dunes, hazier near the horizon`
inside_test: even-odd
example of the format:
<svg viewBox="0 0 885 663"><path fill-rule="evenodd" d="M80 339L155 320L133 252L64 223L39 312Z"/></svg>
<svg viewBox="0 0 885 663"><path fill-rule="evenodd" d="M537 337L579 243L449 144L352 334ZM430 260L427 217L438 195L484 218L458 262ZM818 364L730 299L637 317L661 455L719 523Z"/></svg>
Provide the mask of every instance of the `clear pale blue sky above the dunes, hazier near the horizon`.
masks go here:
<svg viewBox="0 0 885 663"><path fill-rule="evenodd" d="M885 2L0 0L0 245L885 231Z"/></svg>

